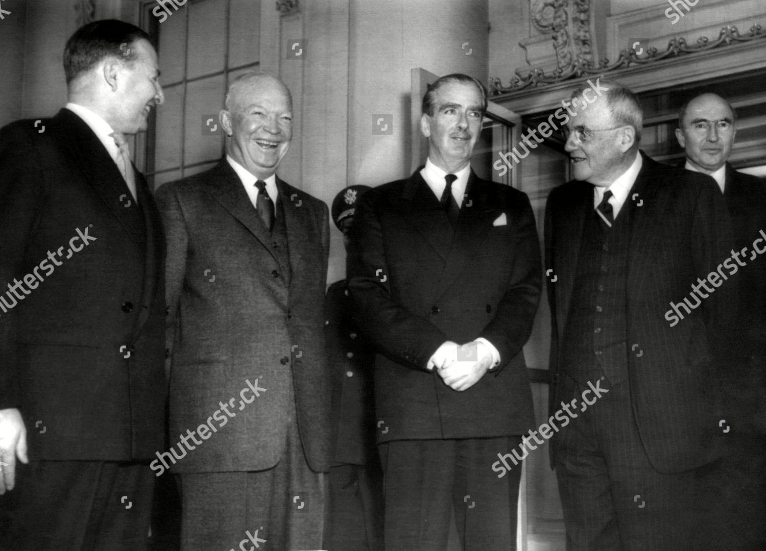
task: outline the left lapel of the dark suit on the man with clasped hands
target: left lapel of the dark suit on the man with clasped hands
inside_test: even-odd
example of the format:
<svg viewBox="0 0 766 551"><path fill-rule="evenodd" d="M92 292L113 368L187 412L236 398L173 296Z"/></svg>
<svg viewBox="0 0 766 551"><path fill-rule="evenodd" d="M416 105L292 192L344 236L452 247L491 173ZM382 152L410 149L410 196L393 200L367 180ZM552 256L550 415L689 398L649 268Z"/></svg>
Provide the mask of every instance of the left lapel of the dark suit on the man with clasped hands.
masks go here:
<svg viewBox="0 0 766 551"><path fill-rule="evenodd" d="M421 176L420 168L404 184L401 197L394 203L394 208L441 259L447 262L454 230L434 192Z"/></svg>

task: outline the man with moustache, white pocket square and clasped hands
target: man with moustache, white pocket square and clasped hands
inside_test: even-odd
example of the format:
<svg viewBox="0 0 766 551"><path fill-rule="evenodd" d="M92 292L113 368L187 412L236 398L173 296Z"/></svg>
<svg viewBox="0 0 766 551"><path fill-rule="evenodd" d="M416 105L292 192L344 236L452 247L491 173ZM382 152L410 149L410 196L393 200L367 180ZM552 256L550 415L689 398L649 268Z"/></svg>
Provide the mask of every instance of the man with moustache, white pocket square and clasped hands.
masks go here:
<svg viewBox="0 0 766 551"><path fill-rule="evenodd" d="M485 109L471 77L430 86L426 165L368 191L351 228L349 292L379 353L389 550L446 549L451 517L463 549L516 545L520 469L490 465L534 423L522 346L541 267L529 199L471 171Z"/></svg>

